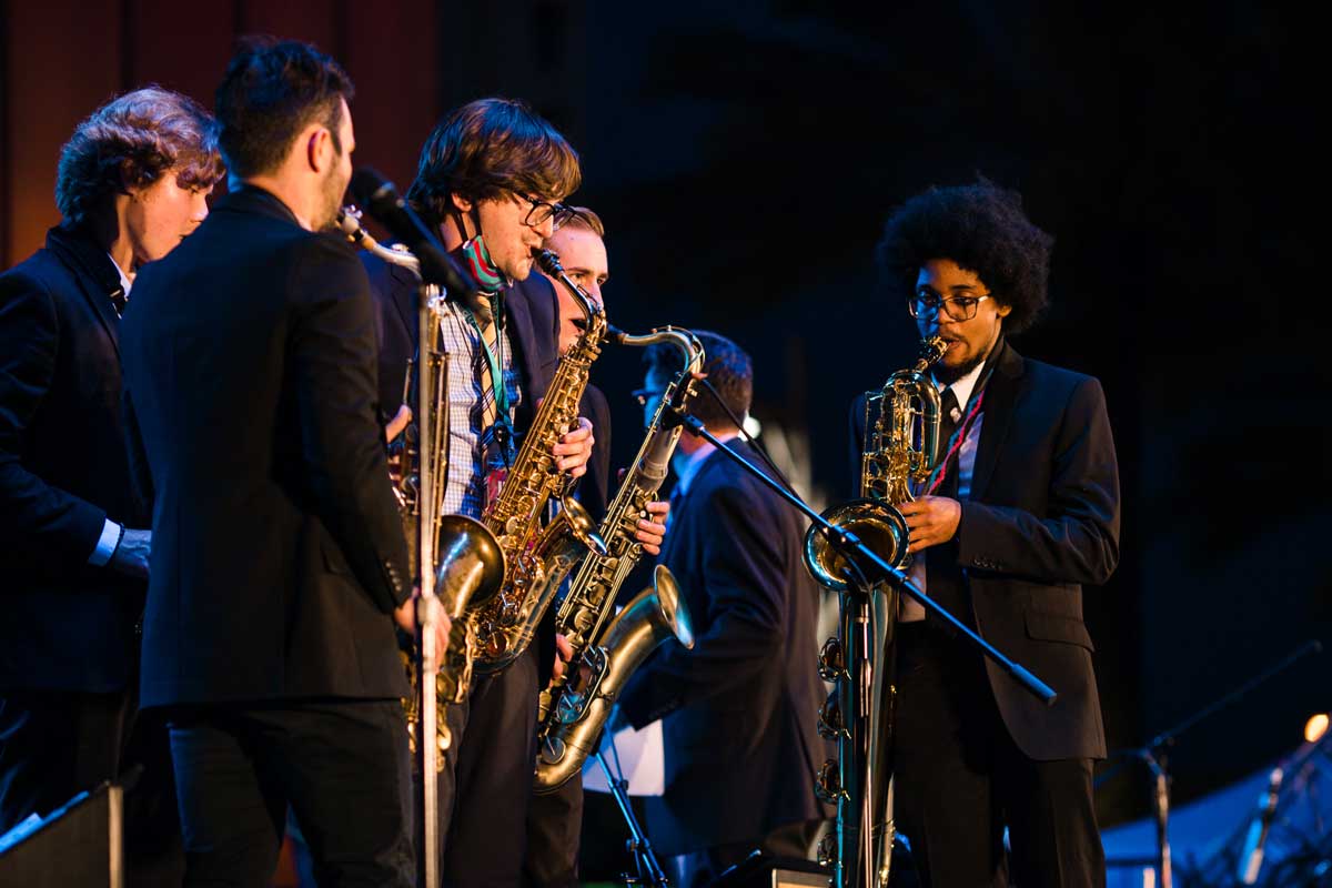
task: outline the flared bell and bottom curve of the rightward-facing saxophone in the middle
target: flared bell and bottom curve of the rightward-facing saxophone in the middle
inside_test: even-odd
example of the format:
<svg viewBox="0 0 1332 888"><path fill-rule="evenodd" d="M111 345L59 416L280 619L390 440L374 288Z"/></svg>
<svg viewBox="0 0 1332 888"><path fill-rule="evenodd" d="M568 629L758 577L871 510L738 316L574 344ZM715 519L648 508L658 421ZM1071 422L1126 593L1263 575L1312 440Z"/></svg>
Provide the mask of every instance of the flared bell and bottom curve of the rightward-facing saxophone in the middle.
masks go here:
<svg viewBox="0 0 1332 888"><path fill-rule="evenodd" d="M611 595L614 598L614 595ZM583 762L597 751L597 738L610 718L615 699L629 676L663 642L677 639L694 647L689 608L665 564L653 572L653 584L642 590L606 624L598 643L582 654L589 667L586 680L566 686L547 720L541 724L537 776L538 795L554 792L582 771ZM578 672L579 660L569 664Z"/></svg>

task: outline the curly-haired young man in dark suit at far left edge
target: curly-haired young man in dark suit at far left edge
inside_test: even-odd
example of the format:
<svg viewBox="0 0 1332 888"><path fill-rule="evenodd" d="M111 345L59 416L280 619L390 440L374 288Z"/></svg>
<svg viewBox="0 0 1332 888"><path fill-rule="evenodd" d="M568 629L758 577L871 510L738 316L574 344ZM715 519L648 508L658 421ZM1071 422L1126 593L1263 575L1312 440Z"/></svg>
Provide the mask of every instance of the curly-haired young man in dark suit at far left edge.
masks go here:
<svg viewBox="0 0 1332 888"><path fill-rule="evenodd" d="M221 176L200 105L127 93L75 129L64 221L0 276L0 833L143 764L127 797L136 884L159 865L178 883L180 837L163 728L137 715L151 515L124 443L120 313ZM149 860L172 836L174 860Z"/></svg>

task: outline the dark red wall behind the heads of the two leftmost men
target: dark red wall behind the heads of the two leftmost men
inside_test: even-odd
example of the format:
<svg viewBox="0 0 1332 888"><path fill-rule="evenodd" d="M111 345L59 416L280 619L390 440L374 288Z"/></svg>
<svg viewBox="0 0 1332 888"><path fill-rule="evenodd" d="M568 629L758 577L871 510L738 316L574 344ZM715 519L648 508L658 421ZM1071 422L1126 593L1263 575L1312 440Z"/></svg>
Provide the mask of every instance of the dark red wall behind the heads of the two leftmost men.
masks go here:
<svg viewBox="0 0 1332 888"><path fill-rule="evenodd" d="M404 189L442 112L430 0L8 0L0 9L0 268L60 221L56 160L80 120L149 83L212 108L240 35L308 40L341 61L357 88L356 162Z"/></svg>

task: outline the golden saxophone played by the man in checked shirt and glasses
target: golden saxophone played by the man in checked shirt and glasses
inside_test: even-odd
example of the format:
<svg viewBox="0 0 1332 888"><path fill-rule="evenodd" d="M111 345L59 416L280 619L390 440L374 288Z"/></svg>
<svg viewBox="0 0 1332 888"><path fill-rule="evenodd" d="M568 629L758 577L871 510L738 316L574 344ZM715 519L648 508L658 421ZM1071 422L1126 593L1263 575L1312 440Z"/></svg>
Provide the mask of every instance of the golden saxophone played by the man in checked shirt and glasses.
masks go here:
<svg viewBox="0 0 1332 888"><path fill-rule="evenodd" d="M555 469L550 454L559 437L578 422L578 399L587 387L591 362L601 354L606 314L565 274L558 256L535 250L535 257L542 270L573 294L586 328L559 359L503 487L481 518L498 539L505 562L498 595L468 610L468 622L476 630L476 668L482 672L503 668L527 648L559 584L582 555L606 553L595 522L570 495L570 479ZM551 499L559 502L559 514L542 530L541 517Z"/></svg>

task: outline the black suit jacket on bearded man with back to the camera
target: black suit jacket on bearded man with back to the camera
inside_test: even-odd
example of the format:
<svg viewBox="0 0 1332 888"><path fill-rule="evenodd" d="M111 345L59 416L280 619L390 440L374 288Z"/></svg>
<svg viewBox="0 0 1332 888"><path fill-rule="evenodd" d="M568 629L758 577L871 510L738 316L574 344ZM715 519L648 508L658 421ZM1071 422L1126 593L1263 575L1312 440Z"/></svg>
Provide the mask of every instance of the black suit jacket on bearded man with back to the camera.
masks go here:
<svg viewBox="0 0 1332 888"><path fill-rule="evenodd" d="M140 273L123 346L156 491L144 704L405 695L410 570L352 248L242 188Z"/></svg>

